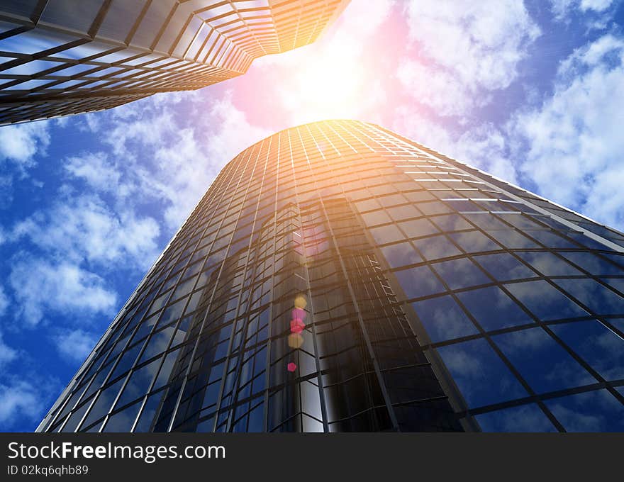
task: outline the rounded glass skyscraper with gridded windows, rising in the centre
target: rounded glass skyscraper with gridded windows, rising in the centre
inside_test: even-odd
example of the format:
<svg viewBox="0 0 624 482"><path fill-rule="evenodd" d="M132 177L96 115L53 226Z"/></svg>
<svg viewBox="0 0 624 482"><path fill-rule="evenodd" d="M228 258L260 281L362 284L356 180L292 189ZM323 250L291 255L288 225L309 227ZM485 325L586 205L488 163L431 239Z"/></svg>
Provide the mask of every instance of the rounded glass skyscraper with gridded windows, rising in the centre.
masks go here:
<svg viewBox="0 0 624 482"><path fill-rule="evenodd" d="M229 162L40 431L624 430L624 235L377 125Z"/></svg>

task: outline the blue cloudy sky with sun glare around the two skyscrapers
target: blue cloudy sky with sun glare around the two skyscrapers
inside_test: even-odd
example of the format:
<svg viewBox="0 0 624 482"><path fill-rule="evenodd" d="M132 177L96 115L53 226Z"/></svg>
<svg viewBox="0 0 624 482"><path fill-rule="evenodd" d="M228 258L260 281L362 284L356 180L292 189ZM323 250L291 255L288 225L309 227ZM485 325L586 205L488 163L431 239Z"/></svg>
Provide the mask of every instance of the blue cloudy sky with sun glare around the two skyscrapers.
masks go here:
<svg viewBox="0 0 624 482"><path fill-rule="evenodd" d="M352 0L243 77L0 127L0 430L34 430L228 160L325 118L623 230L624 1Z"/></svg>

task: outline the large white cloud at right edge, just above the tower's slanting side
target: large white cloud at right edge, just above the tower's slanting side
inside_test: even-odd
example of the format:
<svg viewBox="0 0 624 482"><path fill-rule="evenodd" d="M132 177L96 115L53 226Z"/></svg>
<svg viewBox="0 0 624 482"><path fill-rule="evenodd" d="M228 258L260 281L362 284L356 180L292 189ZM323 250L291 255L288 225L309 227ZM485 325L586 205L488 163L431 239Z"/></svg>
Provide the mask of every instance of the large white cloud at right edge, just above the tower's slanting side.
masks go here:
<svg viewBox="0 0 624 482"><path fill-rule="evenodd" d="M624 39L605 35L576 50L542 106L516 118L528 145L523 174L540 194L622 228Z"/></svg>

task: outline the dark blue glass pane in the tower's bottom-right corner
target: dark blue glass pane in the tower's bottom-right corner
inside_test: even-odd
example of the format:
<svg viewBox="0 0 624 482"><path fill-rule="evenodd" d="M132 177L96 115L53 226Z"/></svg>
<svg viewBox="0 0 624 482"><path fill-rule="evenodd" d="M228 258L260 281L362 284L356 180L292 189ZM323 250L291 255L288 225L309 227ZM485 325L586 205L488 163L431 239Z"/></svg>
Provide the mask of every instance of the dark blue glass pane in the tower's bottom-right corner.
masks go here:
<svg viewBox="0 0 624 482"><path fill-rule="evenodd" d="M606 390L577 393L545 403L568 432L624 431L624 405Z"/></svg>

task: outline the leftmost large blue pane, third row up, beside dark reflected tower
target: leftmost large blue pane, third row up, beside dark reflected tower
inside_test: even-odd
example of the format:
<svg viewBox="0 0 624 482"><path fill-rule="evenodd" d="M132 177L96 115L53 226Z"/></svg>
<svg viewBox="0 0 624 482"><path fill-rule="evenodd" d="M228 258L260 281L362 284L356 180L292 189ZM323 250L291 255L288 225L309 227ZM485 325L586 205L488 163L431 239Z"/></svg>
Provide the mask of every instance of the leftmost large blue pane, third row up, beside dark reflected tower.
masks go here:
<svg viewBox="0 0 624 482"><path fill-rule="evenodd" d="M432 342L477 333L472 322L450 296L412 303Z"/></svg>

